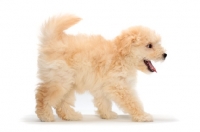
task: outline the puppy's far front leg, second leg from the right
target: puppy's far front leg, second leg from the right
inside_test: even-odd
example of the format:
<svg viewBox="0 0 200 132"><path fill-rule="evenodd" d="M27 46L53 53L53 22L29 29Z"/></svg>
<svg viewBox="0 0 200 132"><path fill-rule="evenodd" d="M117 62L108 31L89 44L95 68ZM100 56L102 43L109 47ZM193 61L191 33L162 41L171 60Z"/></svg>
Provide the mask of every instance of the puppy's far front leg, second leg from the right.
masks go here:
<svg viewBox="0 0 200 132"><path fill-rule="evenodd" d="M117 114L112 111L112 102L105 96L94 96L94 105L98 108L97 113L103 119L117 118Z"/></svg>

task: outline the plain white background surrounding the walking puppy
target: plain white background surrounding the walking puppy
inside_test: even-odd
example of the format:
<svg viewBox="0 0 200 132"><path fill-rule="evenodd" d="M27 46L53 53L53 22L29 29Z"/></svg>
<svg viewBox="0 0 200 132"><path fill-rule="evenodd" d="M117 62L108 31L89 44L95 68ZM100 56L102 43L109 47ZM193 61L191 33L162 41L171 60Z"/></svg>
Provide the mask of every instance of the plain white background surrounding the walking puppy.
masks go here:
<svg viewBox="0 0 200 132"><path fill-rule="evenodd" d="M41 24L56 14L83 20L67 33L101 34L144 25L162 36L168 56L154 63L158 73L138 74L137 91L152 123L95 116L92 97L77 96L83 121L41 123L36 117L37 48ZM198 0L1 0L0 131L200 131L200 2Z"/></svg>

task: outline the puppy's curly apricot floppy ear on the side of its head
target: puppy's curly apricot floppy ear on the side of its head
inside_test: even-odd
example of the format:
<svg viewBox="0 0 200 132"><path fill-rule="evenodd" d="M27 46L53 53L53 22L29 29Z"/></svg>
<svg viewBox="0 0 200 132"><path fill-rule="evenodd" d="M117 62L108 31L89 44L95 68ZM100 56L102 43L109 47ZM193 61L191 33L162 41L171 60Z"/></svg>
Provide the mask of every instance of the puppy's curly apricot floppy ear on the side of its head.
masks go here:
<svg viewBox="0 0 200 132"><path fill-rule="evenodd" d="M134 37L127 34L116 38L115 43L121 56L126 56L131 52L134 41Z"/></svg>

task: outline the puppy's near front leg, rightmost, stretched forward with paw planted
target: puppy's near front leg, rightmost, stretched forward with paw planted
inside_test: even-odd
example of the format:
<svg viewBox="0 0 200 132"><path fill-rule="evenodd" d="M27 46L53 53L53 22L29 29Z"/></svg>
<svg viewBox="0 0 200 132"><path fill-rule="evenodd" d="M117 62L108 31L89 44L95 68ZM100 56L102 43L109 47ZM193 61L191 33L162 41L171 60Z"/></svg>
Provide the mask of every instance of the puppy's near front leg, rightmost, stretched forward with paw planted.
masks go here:
<svg viewBox="0 0 200 132"><path fill-rule="evenodd" d="M129 88L109 87L104 92L112 99L124 112L132 116L132 120L136 122L153 121L151 115L144 112L143 107L137 98L136 93Z"/></svg>

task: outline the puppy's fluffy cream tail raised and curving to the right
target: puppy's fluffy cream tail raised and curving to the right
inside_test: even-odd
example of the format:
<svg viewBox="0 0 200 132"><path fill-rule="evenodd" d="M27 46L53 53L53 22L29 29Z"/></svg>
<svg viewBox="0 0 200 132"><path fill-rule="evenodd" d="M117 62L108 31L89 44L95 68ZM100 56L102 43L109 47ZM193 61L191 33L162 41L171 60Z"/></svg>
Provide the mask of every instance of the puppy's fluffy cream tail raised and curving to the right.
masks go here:
<svg viewBox="0 0 200 132"><path fill-rule="evenodd" d="M65 29L79 22L81 18L74 15L60 15L50 18L42 26L40 37L41 42L48 42L55 39L60 39Z"/></svg>

